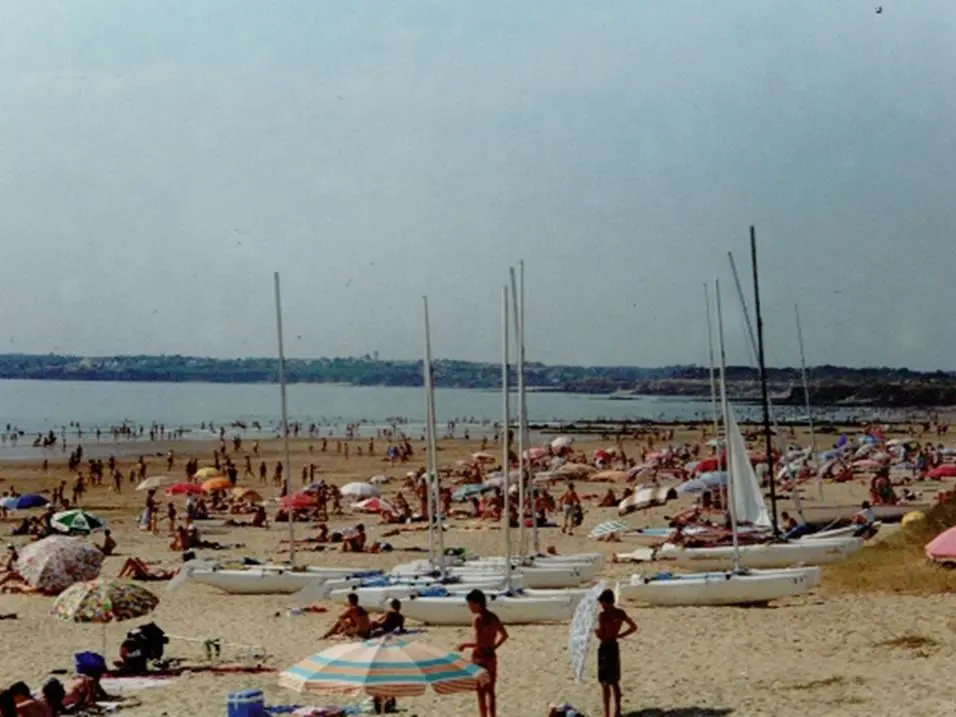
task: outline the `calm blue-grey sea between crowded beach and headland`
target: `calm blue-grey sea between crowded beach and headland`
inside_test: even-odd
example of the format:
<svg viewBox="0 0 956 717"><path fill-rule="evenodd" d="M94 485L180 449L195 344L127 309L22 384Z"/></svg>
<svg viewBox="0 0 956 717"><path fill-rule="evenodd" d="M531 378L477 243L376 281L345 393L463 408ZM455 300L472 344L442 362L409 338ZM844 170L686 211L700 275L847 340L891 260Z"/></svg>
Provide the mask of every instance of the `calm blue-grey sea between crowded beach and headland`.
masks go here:
<svg viewBox="0 0 956 717"><path fill-rule="evenodd" d="M424 427L425 395L421 388L359 387L330 384L290 384L287 387L290 422L304 427L315 423L322 435L343 435L348 424L360 424L360 435L374 433L376 427L397 424L408 435L419 435ZM516 400L512 402L515 414ZM574 393L529 392L529 423L558 429L575 421L695 421L710 420L710 400L662 396L595 396ZM759 407L736 407L741 420L755 420ZM454 422L455 434L467 429L471 436L491 435L502 416L500 391L477 389L435 390L438 433L442 435ZM794 408L776 410L780 420L801 419L805 411ZM222 383L129 383L121 381L24 381L0 380L0 431L4 441L0 459L42 457L33 448L33 440L49 431L61 439L56 451L66 444L82 443L88 455L117 452L111 445L111 428L127 425L144 437L139 447L119 452L142 450L151 426L167 431L183 429L184 439L210 439L220 427L226 435L270 436L281 423L281 398L274 384ZM828 411L832 419L870 418L866 409ZM254 429L258 422L261 429ZM244 426L244 428L239 427ZM102 431L101 450L96 448L95 431ZM11 433L18 433L14 443ZM129 441L126 441L129 443ZM47 451L44 451L46 453Z"/></svg>

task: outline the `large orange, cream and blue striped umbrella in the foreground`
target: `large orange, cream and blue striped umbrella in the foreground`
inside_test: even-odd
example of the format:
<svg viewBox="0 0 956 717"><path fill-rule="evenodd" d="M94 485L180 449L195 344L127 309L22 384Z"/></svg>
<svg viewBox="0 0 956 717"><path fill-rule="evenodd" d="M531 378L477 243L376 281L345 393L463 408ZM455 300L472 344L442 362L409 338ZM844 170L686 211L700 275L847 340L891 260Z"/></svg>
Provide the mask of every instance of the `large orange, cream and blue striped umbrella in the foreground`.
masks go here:
<svg viewBox="0 0 956 717"><path fill-rule="evenodd" d="M279 675L297 692L415 697L429 686L440 695L473 692L488 673L456 652L387 635L323 650Z"/></svg>

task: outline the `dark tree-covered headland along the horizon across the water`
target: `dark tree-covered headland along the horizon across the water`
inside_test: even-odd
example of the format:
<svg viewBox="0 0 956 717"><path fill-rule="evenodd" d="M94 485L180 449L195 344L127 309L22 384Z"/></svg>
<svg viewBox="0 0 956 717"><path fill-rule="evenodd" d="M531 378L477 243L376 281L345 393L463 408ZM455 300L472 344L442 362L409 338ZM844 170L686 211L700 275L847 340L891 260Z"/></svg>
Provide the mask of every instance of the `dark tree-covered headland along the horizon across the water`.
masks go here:
<svg viewBox="0 0 956 717"><path fill-rule="evenodd" d="M438 359L435 385L440 388L497 389L501 367L476 361ZM814 366L809 369L814 405L930 408L956 406L956 372L912 371L898 368ZM290 383L349 386L422 385L422 362L373 356L288 359ZM757 371L728 368L729 390L737 400L759 397ZM198 356L69 356L0 354L0 379L49 381L140 381L197 383L275 383L275 358L205 358ZM800 370L768 370L770 390L778 404L801 405ZM611 395L701 398L710 395L709 368L696 365L661 366L526 366L526 385L533 391Z"/></svg>

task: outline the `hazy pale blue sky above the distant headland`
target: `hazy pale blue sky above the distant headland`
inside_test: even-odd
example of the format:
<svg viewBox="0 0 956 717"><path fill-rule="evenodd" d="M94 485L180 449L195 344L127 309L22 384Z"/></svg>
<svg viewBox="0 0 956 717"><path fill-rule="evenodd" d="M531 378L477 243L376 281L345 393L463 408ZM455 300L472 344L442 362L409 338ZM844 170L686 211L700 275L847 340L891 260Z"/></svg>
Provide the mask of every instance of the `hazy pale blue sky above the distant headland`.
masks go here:
<svg viewBox="0 0 956 717"><path fill-rule="evenodd" d="M956 369L947 0L0 4L0 352Z"/></svg>

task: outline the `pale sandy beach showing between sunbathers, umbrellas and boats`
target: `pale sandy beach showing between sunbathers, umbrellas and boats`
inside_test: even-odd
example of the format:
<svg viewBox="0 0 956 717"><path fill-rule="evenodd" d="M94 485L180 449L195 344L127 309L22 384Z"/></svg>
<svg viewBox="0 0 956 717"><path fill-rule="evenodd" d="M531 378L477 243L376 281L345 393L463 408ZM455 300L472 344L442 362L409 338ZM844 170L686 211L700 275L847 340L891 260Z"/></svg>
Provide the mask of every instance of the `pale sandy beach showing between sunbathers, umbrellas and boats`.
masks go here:
<svg viewBox="0 0 956 717"><path fill-rule="evenodd" d="M698 434L678 433L674 442L696 440ZM599 445L599 444L595 444ZM310 461L319 466L318 478L344 484L367 480L375 474L387 474L397 480L385 487L388 495L400 487L400 477L417 468L423 460L423 444L413 443L415 456L406 465L390 467L381 456L359 457L352 451L346 459L334 452L314 454L308 440L293 441L292 476L298 487L301 467ZM629 453L639 444L625 441ZM177 454L172 475L179 480L185 457L196 455L201 465L208 463L215 444L195 441L180 444L143 442L142 452L149 475L164 473L165 451ZM248 445L244 446L248 449ZM440 443L439 461L453 464L479 449L479 441L445 440ZM281 455L281 441L262 442L261 453L272 465ZM242 454L235 459L241 463ZM202 460L206 459L206 460ZM133 460L120 461L128 475ZM70 481L66 456L51 461L44 472L39 461L7 463L0 467L0 491L15 486L21 493L49 491L61 480ZM258 478L243 481L260 489ZM119 495L105 485L92 489L82 507L105 518L119 542L118 555L107 558L103 574L115 575L127 556L137 556L150 564L174 567L179 555L169 547L165 519L160 535L139 530L134 515L142 506L144 494L124 485ZM935 492L938 484L918 488ZM581 484L585 495L601 495L605 484ZM555 491L557 489L554 489ZM826 502L859 503L866 497L866 485L854 482L826 487ZM262 488L267 496L278 491L272 485ZM809 501L814 490L806 491ZM927 497L929 497L927 495ZM164 501L166 499L164 498ZM181 507L182 499L175 500ZM604 551L608 554L628 549L628 543L606 544L589 540L591 526L616 517L613 508L597 508L596 500L586 503L584 525L573 537L557 529L542 532L543 546L554 546L561 553ZM817 503L812 503L816 505ZM663 516L679 510L675 504L656 508L628 518L634 527L663 524ZM782 509L786 509L783 504ZM270 510L270 514L273 509ZM369 536L378 539L393 526L379 526L377 518L351 516L333 519L330 528L364 522ZM213 528L221 520L204 522L210 539L223 543L242 543L244 547L222 553L209 553L220 559L255 556L280 560L280 541L287 535L285 525L270 529ZM2 523L4 532L13 519ZM473 521L453 521L446 534L447 546L463 546L478 554L500 554L501 533L497 529L463 529ZM213 528L212 530L209 530ZM300 536L308 526L296 526ZM101 538L94 536L95 541ZM12 538L20 545L26 538ZM388 568L422 557L409 548L424 548L422 532L403 533L388 540L395 550L376 555L342 553L329 547L324 552L301 552L304 563L325 566L361 566ZM871 548L865 548L869 550ZM627 579L632 573L648 570L631 564L606 564L601 578ZM223 663L244 664L243 645L262 646L268 654L265 664L281 670L330 644L320 635L331 624L339 608L329 605L324 614L289 614L295 605L290 596L234 596L212 588L187 583L178 592L167 595L164 583L147 583L160 596L156 611L140 622L155 621L173 636L167 655L202 664L202 645L197 639L220 638L227 643ZM16 613L17 619L0 623L4 649L0 652L0 675L4 683L25 680L39 687L52 670L68 669L72 654L78 650L99 650L103 629L97 625L61 622L50 613L52 599L39 596L0 596L0 613ZM625 603L640 626L640 632L622 646L625 715L631 717L690 717L691 715L944 715L951 714L956 703L956 683L945 670L952 665L956 648L953 614L956 597L889 594L833 594L823 586L811 595L784 600L768 608L642 608ZM125 632L138 622L107 628L109 659L116 659ZM595 680L594 655L589 658L585 678L577 683L571 677L567 653L566 625L519 626L510 630L511 639L502 648L499 666L499 714L537 717L547 714L550 703L569 702L585 715L600 714L600 690ZM467 636L464 629L429 627L422 639L453 649ZM181 637L190 640L179 639ZM317 705L322 701L299 695L276 685L276 674L196 673L169 680L162 687L129 693L138 706L124 710L135 715L222 715L229 692L259 688L267 703ZM335 700L331 701L335 703ZM354 702L342 699L339 704ZM477 713L472 695L424 697L403 700L406 714L422 717L471 715Z"/></svg>

